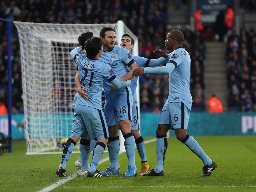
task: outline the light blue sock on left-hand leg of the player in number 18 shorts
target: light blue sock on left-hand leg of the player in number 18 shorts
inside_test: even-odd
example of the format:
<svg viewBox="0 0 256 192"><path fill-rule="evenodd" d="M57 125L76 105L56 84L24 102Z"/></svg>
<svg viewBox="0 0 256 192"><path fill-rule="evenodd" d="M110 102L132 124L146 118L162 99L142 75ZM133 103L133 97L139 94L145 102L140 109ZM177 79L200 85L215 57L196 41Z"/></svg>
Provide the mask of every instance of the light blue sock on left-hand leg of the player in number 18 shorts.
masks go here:
<svg viewBox="0 0 256 192"><path fill-rule="evenodd" d="M120 151L119 137L108 138L108 154L110 159L110 169L116 171L118 169L118 154Z"/></svg>

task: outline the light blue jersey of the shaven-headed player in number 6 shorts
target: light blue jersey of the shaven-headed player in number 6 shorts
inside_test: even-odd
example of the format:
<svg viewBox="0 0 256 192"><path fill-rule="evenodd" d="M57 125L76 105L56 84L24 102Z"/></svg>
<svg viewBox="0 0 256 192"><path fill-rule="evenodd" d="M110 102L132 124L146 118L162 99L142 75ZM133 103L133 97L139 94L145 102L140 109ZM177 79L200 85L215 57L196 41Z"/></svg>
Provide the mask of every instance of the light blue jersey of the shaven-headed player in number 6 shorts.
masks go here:
<svg viewBox="0 0 256 192"><path fill-rule="evenodd" d="M169 74L169 102L192 102L190 94L191 59L188 52L178 47L172 51L168 63L173 63L175 69Z"/></svg>

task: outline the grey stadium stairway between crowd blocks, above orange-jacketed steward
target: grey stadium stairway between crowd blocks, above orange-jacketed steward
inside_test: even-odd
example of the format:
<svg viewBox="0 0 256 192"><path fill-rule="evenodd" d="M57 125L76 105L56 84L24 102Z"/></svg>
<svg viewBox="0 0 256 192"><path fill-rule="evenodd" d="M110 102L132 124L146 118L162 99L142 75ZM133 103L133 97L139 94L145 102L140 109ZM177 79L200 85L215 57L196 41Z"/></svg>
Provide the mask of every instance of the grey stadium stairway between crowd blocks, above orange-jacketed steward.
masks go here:
<svg viewBox="0 0 256 192"><path fill-rule="evenodd" d="M204 66L205 103L212 94L220 99L223 110L228 110L227 89L228 81L226 74L226 43L207 42L207 55Z"/></svg>

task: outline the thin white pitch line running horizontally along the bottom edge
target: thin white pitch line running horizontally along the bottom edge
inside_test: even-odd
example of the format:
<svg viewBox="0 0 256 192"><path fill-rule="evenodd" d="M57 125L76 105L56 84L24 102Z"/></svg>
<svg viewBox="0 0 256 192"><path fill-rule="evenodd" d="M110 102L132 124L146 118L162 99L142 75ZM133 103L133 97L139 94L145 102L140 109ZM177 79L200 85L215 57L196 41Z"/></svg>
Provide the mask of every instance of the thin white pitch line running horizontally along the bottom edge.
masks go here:
<svg viewBox="0 0 256 192"><path fill-rule="evenodd" d="M62 186L60 188L256 188L256 185L206 185L206 186L199 186L199 185L160 185L160 186L76 186L76 187L68 187Z"/></svg>

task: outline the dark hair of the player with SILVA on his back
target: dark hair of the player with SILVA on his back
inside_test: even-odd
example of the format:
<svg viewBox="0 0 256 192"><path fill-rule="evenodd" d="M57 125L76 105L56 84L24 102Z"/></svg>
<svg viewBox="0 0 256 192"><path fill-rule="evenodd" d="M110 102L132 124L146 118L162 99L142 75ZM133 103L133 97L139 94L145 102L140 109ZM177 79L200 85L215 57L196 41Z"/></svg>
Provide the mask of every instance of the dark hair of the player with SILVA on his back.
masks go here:
<svg viewBox="0 0 256 192"><path fill-rule="evenodd" d="M86 55L89 59L95 58L95 56L99 53L99 50L102 46L102 40L99 37L92 37L88 39L84 43L84 49L86 51Z"/></svg>

